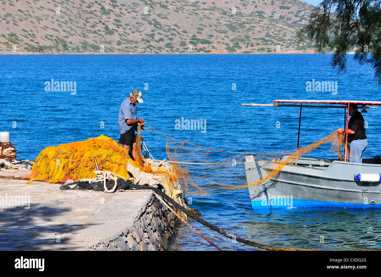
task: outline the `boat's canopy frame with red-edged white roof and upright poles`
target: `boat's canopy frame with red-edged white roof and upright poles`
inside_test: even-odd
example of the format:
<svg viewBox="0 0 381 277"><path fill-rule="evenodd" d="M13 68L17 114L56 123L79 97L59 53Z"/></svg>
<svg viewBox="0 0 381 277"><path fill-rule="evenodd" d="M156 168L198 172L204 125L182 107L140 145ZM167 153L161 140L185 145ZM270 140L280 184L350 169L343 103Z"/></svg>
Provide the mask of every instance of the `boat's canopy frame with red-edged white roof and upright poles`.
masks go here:
<svg viewBox="0 0 381 277"><path fill-rule="evenodd" d="M285 104L283 104L285 103ZM349 105L357 104L362 106L361 112L367 112L367 109L377 109L376 106L381 106L381 101L357 101L357 100L274 100L272 104L245 104L242 106L261 106L261 107L300 107L299 112L299 128L298 128L298 149L299 149L299 137L300 137L300 123L302 118L302 107L304 108L344 108L344 130L345 130L345 150L344 161L347 160L347 141L348 141L348 122L349 122ZM296 105L300 104L300 105ZM318 105L303 105L303 104L330 104L330 106L318 106ZM339 106L332 106L339 105ZM367 107L368 105L368 107Z"/></svg>

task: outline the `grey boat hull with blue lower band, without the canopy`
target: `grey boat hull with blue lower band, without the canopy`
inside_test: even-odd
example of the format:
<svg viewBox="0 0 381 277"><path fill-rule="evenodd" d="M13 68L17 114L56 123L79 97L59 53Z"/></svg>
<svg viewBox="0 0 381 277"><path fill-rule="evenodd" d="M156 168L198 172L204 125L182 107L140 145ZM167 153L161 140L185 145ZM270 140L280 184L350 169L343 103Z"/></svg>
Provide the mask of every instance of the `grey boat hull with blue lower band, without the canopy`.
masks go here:
<svg viewBox="0 0 381 277"><path fill-rule="evenodd" d="M354 179L358 173L381 173L381 165L331 161L327 167L319 161L304 158L303 165L285 165L277 176L258 186L249 185L252 207L381 208L380 183ZM252 177L257 167L253 167L253 161L246 163L248 184L255 183ZM259 161L257 165L263 177L279 163Z"/></svg>

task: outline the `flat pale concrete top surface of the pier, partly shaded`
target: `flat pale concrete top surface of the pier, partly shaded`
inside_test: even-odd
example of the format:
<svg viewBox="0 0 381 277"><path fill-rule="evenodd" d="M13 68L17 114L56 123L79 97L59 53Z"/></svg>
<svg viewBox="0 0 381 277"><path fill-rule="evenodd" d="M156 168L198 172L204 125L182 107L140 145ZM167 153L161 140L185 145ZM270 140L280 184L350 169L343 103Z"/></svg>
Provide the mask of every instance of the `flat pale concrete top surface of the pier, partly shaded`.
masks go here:
<svg viewBox="0 0 381 277"><path fill-rule="evenodd" d="M0 179L0 250L86 250L132 226L152 195L59 186ZM24 203L14 205L12 198Z"/></svg>

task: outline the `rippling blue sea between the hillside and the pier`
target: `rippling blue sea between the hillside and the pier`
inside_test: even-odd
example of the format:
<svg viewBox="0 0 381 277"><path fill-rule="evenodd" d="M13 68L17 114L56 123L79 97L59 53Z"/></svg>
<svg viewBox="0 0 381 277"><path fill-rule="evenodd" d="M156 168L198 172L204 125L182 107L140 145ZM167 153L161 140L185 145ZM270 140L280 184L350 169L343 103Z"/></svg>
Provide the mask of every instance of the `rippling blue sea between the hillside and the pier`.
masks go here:
<svg viewBox="0 0 381 277"><path fill-rule="evenodd" d="M329 54L260 55L41 55L0 56L0 131L9 131L18 159L35 159L42 149L101 134L119 139L118 111L128 94L142 91L138 118L173 138L214 149L279 152L296 149L298 108L251 107L275 99L379 101L372 67L347 55L347 70L338 74ZM75 82L75 91L49 91L46 82ZM306 82L337 82L337 91L306 91ZM74 83L73 83L74 84ZM46 91L48 90L48 91ZM368 124L365 158L379 151L380 112L363 114ZM176 120L200 119L205 130L177 130ZM343 109L303 109L300 146L343 128ZM166 137L142 134L155 159L168 159ZM333 157L329 147L313 157ZM185 153L187 154L187 153ZM218 160L214 153L211 160ZM188 162L205 157L189 152ZM234 176L213 166L191 165L189 174L242 183L242 165ZM48 186L48 185L47 185ZM233 234L274 246L325 250L381 249L378 209L252 210L248 191L201 197L187 195L202 218ZM256 250L227 239L195 221L189 222L224 250ZM323 238L323 239L322 239ZM180 226L171 250L215 250Z"/></svg>

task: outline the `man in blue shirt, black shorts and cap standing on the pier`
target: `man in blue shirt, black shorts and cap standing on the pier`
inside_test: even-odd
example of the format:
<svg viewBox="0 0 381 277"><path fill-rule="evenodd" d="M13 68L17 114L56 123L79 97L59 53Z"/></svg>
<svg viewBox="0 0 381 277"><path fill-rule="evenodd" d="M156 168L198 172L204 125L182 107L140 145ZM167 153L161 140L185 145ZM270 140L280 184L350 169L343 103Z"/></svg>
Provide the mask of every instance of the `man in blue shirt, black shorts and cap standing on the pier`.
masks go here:
<svg viewBox="0 0 381 277"><path fill-rule="evenodd" d="M136 160L135 151L138 147L136 144L135 131L140 123L143 130L143 118L136 119L136 103L142 103L142 93L139 90L131 91L130 95L124 99L119 109L118 124L119 124L119 143L123 144L127 153ZM131 148L132 146L132 148Z"/></svg>

